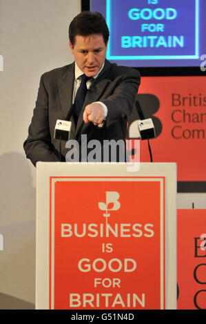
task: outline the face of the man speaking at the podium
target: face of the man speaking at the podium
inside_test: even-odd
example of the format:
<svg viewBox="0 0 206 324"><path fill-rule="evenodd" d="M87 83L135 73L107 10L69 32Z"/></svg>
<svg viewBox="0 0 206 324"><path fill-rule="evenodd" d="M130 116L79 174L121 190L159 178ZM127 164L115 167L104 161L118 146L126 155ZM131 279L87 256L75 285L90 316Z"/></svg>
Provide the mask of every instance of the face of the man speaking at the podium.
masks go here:
<svg viewBox="0 0 206 324"><path fill-rule="evenodd" d="M103 35L76 35L74 45L69 44L80 70L87 77L94 77L101 70L106 57L107 45L105 45Z"/></svg>

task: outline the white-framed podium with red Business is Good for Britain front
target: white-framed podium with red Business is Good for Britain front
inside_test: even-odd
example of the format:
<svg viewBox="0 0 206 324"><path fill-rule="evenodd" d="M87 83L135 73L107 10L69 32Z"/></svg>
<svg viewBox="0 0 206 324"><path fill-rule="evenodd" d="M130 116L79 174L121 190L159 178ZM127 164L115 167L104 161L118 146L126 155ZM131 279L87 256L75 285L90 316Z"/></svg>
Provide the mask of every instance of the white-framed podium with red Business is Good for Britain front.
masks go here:
<svg viewBox="0 0 206 324"><path fill-rule="evenodd" d="M176 163L37 163L36 308L176 309Z"/></svg>

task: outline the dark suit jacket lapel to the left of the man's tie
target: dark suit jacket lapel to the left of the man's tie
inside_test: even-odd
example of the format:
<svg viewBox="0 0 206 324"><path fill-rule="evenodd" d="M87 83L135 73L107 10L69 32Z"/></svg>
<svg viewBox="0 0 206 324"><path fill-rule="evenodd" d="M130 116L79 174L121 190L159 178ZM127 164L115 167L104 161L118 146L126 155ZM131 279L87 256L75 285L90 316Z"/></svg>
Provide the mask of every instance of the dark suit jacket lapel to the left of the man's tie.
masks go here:
<svg viewBox="0 0 206 324"><path fill-rule="evenodd" d="M74 63L70 64L67 72L63 77L58 80L59 85L59 97L61 102L61 108L65 119L72 108L72 96L74 88Z"/></svg>

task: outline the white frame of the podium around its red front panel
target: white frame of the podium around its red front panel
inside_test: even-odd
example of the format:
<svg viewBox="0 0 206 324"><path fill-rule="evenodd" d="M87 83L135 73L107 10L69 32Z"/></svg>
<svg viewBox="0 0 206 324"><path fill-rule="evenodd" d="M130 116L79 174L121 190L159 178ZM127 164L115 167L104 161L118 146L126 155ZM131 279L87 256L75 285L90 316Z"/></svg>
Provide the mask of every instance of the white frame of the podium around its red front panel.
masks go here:
<svg viewBox="0 0 206 324"><path fill-rule="evenodd" d="M165 309L176 309L176 163L37 163L36 309L49 309L50 177L165 177Z"/></svg>

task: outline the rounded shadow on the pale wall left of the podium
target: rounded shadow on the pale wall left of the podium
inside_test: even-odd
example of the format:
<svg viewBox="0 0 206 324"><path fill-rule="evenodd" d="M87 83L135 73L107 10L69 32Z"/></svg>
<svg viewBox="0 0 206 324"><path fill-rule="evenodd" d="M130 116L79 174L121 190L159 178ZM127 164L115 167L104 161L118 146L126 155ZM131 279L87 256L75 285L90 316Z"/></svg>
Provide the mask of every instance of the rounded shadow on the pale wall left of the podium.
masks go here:
<svg viewBox="0 0 206 324"><path fill-rule="evenodd" d="M0 309L30 310L34 304L28 301L35 296L36 190L23 154L3 154L0 165Z"/></svg>

